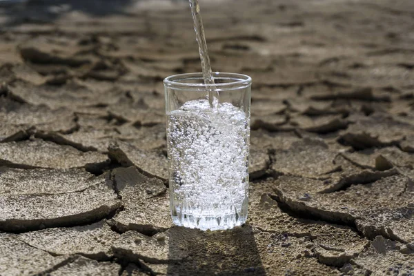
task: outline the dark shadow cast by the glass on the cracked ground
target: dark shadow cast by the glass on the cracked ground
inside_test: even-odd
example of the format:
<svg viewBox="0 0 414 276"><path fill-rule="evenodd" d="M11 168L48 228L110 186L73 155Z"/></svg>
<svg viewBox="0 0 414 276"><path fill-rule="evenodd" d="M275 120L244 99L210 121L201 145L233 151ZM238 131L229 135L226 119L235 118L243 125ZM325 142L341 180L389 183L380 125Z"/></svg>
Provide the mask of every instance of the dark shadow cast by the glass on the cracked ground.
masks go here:
<svg viewBox="0 0 414 276"><path fill-rule="evenodd" d="M266 275L251 226L169 231L168 275Z"/></svg>

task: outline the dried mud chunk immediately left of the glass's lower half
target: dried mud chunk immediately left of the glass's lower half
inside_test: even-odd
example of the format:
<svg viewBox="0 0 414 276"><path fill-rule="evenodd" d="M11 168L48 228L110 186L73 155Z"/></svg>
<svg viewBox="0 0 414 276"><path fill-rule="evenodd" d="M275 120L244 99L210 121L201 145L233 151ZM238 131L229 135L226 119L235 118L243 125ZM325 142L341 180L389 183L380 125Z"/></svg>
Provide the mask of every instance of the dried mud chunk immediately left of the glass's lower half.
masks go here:
<svg viewBox="0 0 414 276"><path fill-rule="evenodd" d="M124 210L111 221L118 230L138 230L153 235L172 226L170 200L163 181L148 178L135 167L112 171Z"/></svg>

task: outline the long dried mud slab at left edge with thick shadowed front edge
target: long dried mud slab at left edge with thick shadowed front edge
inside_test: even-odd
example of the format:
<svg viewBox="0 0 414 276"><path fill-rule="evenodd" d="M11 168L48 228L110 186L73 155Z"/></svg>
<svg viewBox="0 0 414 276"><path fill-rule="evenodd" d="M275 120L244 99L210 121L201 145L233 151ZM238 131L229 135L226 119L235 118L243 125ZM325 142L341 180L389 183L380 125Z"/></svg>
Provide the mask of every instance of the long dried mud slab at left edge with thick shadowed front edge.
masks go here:
<svg viewBox="0 0 414 276"><path fill-rule="evenodd" d="M26 231L102 219L120 206L108 175L85 190L57 195L0 195L0 230Z"/></svg>

